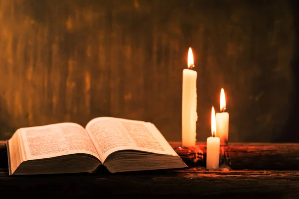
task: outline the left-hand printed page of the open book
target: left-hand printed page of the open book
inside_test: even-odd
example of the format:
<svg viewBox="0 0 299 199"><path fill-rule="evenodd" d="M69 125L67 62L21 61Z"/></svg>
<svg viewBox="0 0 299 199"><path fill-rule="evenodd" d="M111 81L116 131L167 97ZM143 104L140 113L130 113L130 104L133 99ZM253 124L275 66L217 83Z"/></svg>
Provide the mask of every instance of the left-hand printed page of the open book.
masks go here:
<svg viewBox="0 0 299 199"><path fill-rule="evenodd" d="M76 123L20 128L27 160L86 153L100 159L86 130Z"/></svg>

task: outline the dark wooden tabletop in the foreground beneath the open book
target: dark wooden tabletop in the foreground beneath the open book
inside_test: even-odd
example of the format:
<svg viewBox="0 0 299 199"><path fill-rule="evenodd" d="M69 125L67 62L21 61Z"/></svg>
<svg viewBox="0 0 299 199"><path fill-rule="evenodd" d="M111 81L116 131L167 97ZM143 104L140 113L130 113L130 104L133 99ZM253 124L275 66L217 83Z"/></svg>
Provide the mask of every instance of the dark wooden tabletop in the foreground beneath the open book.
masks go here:
<svg viewBox="0 0 299 199"><path fill-rule="evenodd" d="M148 196L198 199L299 199L299 170L183 171L9 177L0 153L1 195L13 197Z"/></svg>

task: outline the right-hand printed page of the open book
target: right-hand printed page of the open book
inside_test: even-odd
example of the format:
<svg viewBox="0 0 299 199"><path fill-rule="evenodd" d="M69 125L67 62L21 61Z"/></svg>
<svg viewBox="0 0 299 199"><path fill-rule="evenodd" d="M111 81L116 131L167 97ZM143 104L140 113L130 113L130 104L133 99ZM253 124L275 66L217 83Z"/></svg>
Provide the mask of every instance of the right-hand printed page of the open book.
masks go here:
<svg viewBox="0 0 299 199"><path fill-rule="evenodd" d="M98 117L86 125L86 130L102 162L109 154L128 149L175 155L168 142L152 125L144 121Z"/></svg>

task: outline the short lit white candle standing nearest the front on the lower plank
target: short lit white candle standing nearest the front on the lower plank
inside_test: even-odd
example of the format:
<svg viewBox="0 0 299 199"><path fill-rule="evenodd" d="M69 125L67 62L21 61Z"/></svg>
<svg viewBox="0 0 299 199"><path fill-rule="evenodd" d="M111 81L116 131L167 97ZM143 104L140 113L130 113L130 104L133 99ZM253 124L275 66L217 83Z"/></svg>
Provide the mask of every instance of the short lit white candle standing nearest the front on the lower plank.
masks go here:
<svg viewBox="0 0 299 199"><path fill-rule="evenodd" d="M211 131L212 136L207 138L207 160L206 169L219 168L220 138L216 137L216 118L215 109L212 106L211 115Z"/></svg>

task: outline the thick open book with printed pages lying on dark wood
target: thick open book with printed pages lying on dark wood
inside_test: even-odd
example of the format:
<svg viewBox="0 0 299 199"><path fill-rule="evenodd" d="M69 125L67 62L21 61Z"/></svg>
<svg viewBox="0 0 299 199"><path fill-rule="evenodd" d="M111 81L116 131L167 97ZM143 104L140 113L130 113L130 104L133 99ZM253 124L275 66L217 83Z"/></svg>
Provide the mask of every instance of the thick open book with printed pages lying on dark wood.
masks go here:
<svg viewBox="0 0 299 199"><path fill-rule="evenodd" d="M9 175L188 168L145 121L98 117L85 128L71 122L19 128L6 143Z"/></svg>

